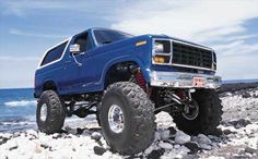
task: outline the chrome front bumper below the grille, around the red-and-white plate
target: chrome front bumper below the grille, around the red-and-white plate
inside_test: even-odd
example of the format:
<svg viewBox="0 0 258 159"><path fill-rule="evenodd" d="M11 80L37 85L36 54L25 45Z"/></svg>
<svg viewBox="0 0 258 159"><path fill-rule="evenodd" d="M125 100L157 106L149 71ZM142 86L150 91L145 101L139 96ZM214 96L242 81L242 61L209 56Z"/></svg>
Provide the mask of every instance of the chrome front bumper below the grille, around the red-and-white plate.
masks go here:
<svg viewBox="0 0 258 159"><path fill-rule="evenodd" d="M207 74L151 71L150 77L151 86L156 87L196 88L194 86L194 77L204 78L204 86L201 88L215 89L221 86L220 76Z"/></svg>

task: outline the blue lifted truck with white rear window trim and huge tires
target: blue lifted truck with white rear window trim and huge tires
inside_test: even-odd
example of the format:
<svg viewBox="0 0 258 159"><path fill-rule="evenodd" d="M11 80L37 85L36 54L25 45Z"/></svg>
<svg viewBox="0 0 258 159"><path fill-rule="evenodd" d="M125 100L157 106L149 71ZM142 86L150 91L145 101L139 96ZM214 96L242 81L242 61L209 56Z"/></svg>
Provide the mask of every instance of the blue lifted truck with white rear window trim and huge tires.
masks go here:
<svg viewBox="0 0 258 159"><path fill-rule="evenodd" d="M166 35L90 28L46 51L35 73L39 131L95 113L114 151L151 145L155 113L167 111L186 133L213 133L222 106L214 50Z"/></svg>

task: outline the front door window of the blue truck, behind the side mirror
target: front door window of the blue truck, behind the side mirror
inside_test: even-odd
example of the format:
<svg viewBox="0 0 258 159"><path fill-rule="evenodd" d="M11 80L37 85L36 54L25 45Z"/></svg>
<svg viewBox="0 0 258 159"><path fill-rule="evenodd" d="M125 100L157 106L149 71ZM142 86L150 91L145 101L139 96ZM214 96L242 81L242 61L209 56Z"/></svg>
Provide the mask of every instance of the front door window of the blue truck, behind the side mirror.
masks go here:
<svg viewBox="0 0 258 159"><path fill-rule="evenodd" d="M87 33L78 36L74 39L74 44L80 45L81 52L86 52L87 50L90 50L92 48L92 44L91 44L91 40L89 38L89 34Z"/></svg>

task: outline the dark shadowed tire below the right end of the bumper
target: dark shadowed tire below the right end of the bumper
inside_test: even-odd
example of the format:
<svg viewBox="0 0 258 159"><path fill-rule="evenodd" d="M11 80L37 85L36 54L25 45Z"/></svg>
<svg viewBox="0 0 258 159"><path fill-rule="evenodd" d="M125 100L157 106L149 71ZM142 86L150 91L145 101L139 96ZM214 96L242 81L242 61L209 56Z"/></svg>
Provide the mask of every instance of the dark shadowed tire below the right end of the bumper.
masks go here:
<svg viewBox="0 0 258 159"><path fill-rule="evenodd" d="M219 95L213 89L199 89L192 94L199 105L199 114L195 120L183 115L173 117L177 127L188 134L215 134L222 115L222 105Z"/></svg>

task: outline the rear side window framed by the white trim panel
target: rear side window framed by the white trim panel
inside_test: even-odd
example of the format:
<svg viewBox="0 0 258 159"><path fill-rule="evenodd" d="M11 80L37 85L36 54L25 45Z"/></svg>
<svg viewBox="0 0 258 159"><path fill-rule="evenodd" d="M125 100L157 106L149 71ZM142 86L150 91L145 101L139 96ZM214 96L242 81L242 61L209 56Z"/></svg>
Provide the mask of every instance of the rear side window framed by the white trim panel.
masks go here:
<svg viewBox="0 0 258 159"><path fill-rule="evenodd" d="M59 45L58 47L49 50L47 52L47 54L45 56L45 58L44 58L44 60L43 60L40 65L45 65L47 63L50 63L52 61L56 61L56 60L60 59L61 56L62 56L62 52L63 52L63 50L66 48L66 46L67 46L67 41L61 44L61 45Z"/></svg>

